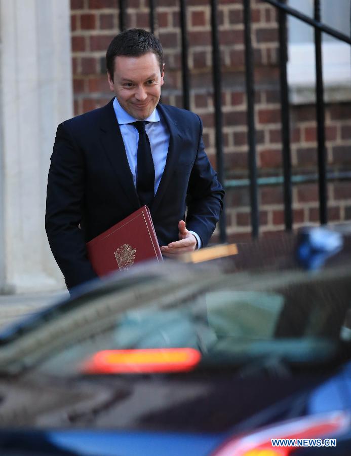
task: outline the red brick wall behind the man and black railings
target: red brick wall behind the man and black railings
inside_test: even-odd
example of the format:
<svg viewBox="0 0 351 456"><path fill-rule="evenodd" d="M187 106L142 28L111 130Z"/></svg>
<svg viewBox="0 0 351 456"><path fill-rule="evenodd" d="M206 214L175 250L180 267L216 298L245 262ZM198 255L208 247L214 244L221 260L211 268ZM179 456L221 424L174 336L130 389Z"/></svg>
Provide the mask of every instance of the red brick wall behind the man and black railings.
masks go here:
<svg viewBox="0 0 351 456"><path fill-rule="evenodd" d="M165 52L164 103L182 106L181 36L178 0L159 0L155 33ZM226 178L247 178L247 124L244 73L242 0L219 0L223 142ZM148 1L126 0L128 27L148 28ZM204 122L207 153L215 166L214 106L211 68L210 6L206 0L187 0L190 107ZM252 1L252 40L256 83L256 139L259 174L281 175L278 25L273 7ZM109 92L104 55L119 32L116 0L71 0L74 112L105 104ZM326 109L328 170L351 167L351 105L329 104ZM316 112L314 105L291 107L293 173L317 172ZM330 221L351 219L351 182L328 183ZM227 189L226 219L229 240L250 235L249 188ZM281 185L259 189L260 232L284 229ZM293 186L294 227L318 223L318 183ZM216 240L216 236L214 236Z"/></svg>

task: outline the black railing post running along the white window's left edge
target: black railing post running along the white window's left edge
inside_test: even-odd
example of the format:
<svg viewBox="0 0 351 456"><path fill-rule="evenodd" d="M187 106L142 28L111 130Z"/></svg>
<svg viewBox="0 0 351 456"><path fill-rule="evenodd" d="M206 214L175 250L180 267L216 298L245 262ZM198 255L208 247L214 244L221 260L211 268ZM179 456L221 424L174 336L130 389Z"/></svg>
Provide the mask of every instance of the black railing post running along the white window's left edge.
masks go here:
<svg viewBox="0 0 351 456"><path fill-rule="evenodd" d="M285 3L286 0L280 0ZM292 229L292 189L291 189L291 151L290 151L290 111L287 78L287 29L286 13L279 10L279 66L280 66L280 98L282 112L282 145L284 172L284 220L285 229Z"/></svg>

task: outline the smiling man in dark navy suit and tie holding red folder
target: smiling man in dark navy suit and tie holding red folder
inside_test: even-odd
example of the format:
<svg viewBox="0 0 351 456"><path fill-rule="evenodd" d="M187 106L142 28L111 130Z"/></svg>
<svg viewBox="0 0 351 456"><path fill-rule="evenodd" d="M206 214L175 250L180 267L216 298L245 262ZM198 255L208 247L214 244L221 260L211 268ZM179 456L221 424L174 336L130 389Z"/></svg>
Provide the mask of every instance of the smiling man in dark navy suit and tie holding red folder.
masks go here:
<svg viewBox="0 0 351 456"><path fill-rule="evenodd" d="M142 29L120 33L106 66L115 98L60 124L51 157L46 231L68 289L96 277L86 242L143 204L167 256L206 246L222 209L200 118L159 103L157 37Z"/></svg>

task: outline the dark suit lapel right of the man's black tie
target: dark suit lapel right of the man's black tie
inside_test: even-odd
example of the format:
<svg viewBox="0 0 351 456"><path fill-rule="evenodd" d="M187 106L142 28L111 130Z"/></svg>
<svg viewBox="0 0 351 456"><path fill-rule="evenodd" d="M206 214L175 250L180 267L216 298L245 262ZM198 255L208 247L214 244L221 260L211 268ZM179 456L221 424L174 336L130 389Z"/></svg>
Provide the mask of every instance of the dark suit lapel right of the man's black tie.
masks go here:
<svg viewBox="0 0 351 456"><path fill-rule="evenodd" d="M174 166L177 163L178 158L179 158L179 151L181 150L181 133L178 129L177 124L169 116L167 110L165 109L164 106L162 106L162 104L158 104L157 107L160 112L160 115L164 118L166 125L168 127L168 130L170 133L170 140L169 140L165 169L162 174L162 178L161 178L159 187L157 189L155 198L154 198L152 206L151 206L151 215L157 211L157 208L159 207L162 197L165 194L165 192L167 191L168 185L170 183L170 180L171 180L171 177L173 174Z"/></svg>

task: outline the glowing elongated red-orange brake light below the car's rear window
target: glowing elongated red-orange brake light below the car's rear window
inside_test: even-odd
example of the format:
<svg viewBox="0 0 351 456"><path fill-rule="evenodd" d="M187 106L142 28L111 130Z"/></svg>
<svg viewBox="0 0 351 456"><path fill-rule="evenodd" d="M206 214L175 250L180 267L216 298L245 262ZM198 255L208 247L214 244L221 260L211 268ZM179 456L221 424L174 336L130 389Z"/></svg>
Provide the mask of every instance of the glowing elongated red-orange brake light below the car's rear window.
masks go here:
<svg viewBox="0 0 351 456"><path fill-rule="evenodd" d="M193 369L201 353L191 348L103 350L84 362L88 374L178 372Z"/></svg>

